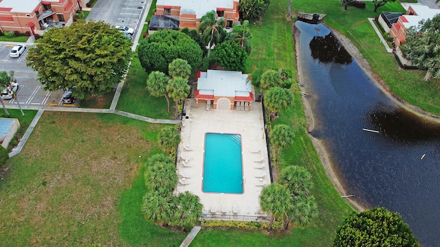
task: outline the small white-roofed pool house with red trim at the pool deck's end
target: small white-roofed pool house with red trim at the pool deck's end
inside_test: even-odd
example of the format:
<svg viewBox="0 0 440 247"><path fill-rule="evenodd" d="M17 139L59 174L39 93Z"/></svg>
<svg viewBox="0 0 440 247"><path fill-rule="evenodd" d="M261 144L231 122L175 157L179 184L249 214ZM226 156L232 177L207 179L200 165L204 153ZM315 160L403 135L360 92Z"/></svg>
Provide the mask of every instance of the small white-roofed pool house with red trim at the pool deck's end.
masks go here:
<svg viewBox="0 0 440 247"><path fill-rule="evenodd" d="M241 71L210 70L197 73L196 108L206 103L206 110L250 110L254 101L250 74Z"/></svg>

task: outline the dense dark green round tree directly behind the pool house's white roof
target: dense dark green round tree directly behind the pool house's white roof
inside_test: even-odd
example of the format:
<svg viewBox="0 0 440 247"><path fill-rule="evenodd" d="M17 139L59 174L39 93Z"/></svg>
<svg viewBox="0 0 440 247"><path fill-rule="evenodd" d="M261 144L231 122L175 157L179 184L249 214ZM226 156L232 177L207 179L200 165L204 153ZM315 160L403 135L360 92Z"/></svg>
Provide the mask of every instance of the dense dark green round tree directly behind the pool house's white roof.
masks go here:
<svg viewBox="0 0 440 247"><path fill-rule="evenodd" d="M215 60L225 69L244 71L248 54L236 43L223 42L215 47Z"/></svg>

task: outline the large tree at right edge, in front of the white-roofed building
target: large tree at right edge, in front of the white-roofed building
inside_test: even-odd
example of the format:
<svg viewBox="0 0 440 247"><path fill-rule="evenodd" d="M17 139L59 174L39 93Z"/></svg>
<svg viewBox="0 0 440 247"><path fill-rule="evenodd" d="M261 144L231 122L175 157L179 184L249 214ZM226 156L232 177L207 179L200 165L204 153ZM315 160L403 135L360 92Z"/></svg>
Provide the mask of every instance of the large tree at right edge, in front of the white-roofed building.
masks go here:
<svg viewBox="0 0 440 247"><path fill-rule="evenodd" d="M402 54L419 69L426 69L424 80L431 75L440 78L440 14L432 19L422 20L418 27L406 30L406 40L400 46Z"/></svg>

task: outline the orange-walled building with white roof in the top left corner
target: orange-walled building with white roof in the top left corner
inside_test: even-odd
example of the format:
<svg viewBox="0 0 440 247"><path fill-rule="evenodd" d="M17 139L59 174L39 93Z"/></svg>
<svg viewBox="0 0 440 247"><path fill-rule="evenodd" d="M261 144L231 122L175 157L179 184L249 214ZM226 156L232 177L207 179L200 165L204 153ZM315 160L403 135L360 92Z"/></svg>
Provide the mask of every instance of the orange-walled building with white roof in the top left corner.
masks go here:
<svg viewBox="0 0 440 247"><path fill-rule="evenodd" d="M78 0L0 0L0 32L43 34L50 27L70 25Z"/></svg>

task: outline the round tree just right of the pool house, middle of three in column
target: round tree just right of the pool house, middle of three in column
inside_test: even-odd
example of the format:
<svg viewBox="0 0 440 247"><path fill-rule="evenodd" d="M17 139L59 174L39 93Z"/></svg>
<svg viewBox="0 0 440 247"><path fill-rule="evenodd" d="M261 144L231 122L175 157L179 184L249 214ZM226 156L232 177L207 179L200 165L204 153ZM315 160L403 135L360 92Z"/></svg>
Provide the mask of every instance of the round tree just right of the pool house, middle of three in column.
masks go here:
<svg viewBox="0 0 440 247"><path fill-rule="evenodd" d="M264 95L264 104L271 111L271 121L283 110L294 104L294 95L289 89L281 89L276 86L269 89Z"/></svg>

